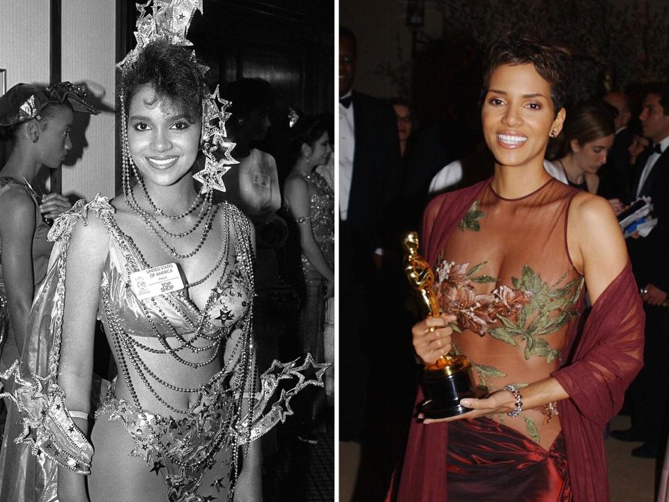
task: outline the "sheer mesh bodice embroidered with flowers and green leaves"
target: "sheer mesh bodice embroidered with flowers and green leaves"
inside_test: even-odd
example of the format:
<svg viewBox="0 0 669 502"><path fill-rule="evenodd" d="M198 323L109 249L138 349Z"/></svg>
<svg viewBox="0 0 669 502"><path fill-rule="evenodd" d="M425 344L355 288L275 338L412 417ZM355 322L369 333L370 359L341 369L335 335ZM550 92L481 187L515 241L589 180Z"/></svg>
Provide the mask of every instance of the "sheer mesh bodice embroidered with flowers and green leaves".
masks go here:
<svg viewBox="0 0 669 502"><path fill-rule="evenodd" d="M442 288L442 305L451 301L464 310L455 347L492 391L544 379L567 356L562 350L583 291L566 241L576 193L551 179L530 195L504 199L488 185L440 252L440 282L454 286L452 293ZM487 313L494 310L487 323L486 305ZM560 432L559 420L548 420L546 410L492 418L546 448Z"/></svg>

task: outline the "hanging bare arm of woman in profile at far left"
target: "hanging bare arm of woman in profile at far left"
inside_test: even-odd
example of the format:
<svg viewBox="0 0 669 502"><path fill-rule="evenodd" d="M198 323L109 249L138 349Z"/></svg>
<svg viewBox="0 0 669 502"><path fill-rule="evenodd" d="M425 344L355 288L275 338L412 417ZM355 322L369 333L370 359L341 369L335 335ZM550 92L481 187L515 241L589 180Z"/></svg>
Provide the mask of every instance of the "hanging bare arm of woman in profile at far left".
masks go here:
<svg viewBox="0 0 669 502"><path fill-rule="evenodd" d="M26 325L33 303L33 235L35 203L22 188L10 188L0 198L2 273L9 303L10 323L19 354L26 338Z"/></svg>

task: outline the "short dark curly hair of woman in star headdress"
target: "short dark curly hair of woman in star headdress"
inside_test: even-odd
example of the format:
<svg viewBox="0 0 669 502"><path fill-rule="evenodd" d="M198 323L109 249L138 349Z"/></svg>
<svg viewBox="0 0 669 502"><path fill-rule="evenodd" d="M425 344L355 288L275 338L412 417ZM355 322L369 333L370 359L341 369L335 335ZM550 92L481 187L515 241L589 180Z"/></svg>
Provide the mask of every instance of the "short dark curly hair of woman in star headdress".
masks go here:
<svg viewBox="0 0 669 502"><path fill-rule="evenodd" d="M201 118L202 100L208 86L206 75L202 75L192 50L167 40L153 40L146 45L132 68L123 75L126 107L130 107L137 89L147 84L155 91L153 100L147 105L157 101L169 104L191 123Z"/></svg>

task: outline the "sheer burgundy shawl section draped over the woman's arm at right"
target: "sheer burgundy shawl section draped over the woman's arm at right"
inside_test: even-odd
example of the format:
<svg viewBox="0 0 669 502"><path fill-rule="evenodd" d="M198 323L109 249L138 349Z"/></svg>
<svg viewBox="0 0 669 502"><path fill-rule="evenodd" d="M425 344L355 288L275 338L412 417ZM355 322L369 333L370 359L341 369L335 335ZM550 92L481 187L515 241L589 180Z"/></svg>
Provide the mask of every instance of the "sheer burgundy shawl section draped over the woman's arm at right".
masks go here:
<svg viewBox="0 0 669 502"><path fill-rule="evenodd" d="M578 500L608 500L603 426L643 365L644 321L628 261L594 303L571 363L553 373L569 393L557 409Z"/></svg>

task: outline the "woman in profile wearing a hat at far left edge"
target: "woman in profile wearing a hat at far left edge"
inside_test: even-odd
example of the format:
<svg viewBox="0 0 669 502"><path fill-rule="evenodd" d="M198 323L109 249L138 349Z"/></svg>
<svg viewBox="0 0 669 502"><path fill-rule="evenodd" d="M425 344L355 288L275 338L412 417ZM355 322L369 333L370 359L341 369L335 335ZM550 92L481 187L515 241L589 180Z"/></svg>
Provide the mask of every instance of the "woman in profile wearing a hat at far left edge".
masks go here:
<svg viewBox="0 0 669 502"><path fill-rule="evenodd" d="M43 167L59 167L72 148L70 102L77 111L96 113L84 97L82 89L63 82L47 89L17 84L0 98L0 132L11 146L0 170L0 370L20 357L33 291L47 271L53 244L45 220L72 206L58 193L41 196L36 176Z"/></svg>

